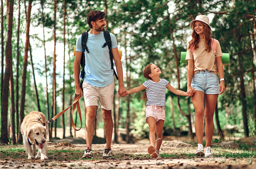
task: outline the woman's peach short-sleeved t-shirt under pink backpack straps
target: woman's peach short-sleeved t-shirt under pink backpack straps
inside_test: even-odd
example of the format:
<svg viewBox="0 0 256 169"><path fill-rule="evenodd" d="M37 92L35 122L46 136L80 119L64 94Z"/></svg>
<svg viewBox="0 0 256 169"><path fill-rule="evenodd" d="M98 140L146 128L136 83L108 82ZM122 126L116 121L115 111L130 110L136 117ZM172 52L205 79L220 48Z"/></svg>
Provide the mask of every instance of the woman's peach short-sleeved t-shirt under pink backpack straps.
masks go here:
<svg viewBox="0 0 256 169"><path fill-rule="evenodd" d="M221 45L218 40L216 40L216 57L222 56ZM187 50L186 60L193 59L193 54L191 50ZM201 70L208 70L218 75L217 67L215 63L215 55L213 49L210 52L205 51L204 39L200 39L198 43L198 48L194 50L194 74Z"/></svg>

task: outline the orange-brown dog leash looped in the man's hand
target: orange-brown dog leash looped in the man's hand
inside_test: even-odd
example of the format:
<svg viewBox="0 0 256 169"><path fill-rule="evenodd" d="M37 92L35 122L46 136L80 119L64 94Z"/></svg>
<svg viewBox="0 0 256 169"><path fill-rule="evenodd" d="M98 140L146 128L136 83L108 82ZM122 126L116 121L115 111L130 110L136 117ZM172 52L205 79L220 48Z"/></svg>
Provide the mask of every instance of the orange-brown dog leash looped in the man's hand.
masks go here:
<svg viewBox="0 0 256 169"><path fill-rule="evenodd" d="M82 117L81 117L81 109L80 109L80 105L79 105L79 99L81 98L81 96L77 96L77 94L75 94L75 99L73 104L71 104L69 107L67 107L65 110L62 110L60 113L58 113L57 115L55 115L52 119L50 119L49 121L47 121L45 124L51 123L52 121L54 121L56 118L58 118L59 116L61 116L63 113L65 113L71 106L73 106L73 110L72 110L72 115L71 115L71 124L74 130L79 131L82 128ZM73 113L76 110L76 106L77 106L77 110L78 110L78 114L79 114L79 118L80 118L80 123L81 123L81 127L79 129L76 129L76 125L74 124L73 121Z"/></svg>

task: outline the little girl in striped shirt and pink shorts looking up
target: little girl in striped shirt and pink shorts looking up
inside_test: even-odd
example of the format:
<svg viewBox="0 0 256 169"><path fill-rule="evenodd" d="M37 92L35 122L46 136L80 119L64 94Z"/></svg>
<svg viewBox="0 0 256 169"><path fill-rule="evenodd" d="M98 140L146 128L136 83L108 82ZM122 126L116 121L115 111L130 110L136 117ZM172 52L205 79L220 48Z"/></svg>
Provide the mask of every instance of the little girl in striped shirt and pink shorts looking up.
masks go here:
<svg viewBox="0 0 256 169"><path fill-rule="evenodd" d="M172 87L166 79L160 79L161 74L160 68L154 64L149 64L143 71L143 75L147 81L139 87L134 87L128 90L127 93L137 93L141 90L146 89L143 94L143 100L147 97L148 102L146 104L146 123L149 126L149 141L151 146L148 147L148 153L151 158L161 158L159 150L163 140L163 122L165 121L165 99L166 99L166 88L172 93L180 96L192 96L193 89L190 88L190 93L186 93L181 90L176 90ZM155 134L157 134L157 141Z"/></svg>

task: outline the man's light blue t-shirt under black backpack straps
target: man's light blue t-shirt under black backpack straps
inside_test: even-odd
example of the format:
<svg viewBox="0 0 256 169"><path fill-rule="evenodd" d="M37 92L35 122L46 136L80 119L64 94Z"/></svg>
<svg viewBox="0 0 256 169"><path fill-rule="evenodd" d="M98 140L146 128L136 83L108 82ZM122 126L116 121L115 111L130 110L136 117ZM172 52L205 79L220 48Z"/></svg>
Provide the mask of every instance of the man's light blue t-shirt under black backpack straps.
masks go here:
<svg viewBox="0 0 256 169"><path fill-rule="evenodd" d="M115 35L110 33L112 49L117 48ZM82 51L82 36L76 40L76 51ZM95 87L105 87L114 81L113 70L111 69L111 61L109 56L108 45L102 48L106 42L104 33L93 35L88 33L87 48L89 53L85 51L85 68L84 81Z"/></svg>

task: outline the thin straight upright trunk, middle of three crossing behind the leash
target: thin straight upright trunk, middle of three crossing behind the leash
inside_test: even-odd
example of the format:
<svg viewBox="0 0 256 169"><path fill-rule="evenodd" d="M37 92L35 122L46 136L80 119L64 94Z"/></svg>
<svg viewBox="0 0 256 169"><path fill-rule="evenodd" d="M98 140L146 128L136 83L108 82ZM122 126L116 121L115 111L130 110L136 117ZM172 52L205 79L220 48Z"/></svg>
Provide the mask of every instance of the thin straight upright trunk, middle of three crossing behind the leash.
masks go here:
<svg viewBox="0 0 256 169"><path fill-rule="evenodd" d="M56 105L56 8L57 8L57 0L54 0L54 25L53 25L53 41L54 41L54 51L53 51L53 114L56 115L57 105ZM54 134L55 138L57 137L57 120L54 121Z"/></svg>

